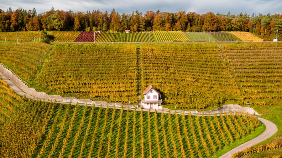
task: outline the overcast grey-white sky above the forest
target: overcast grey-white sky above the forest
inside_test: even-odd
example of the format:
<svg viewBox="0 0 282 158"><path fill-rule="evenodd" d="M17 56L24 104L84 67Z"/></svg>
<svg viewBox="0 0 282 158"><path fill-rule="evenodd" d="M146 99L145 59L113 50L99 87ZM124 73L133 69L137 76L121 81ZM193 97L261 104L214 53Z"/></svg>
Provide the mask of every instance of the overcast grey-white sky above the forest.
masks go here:
<svg viewBox="0 0 282 158"><path fill-rule="evenodd" d="M197 12L200 14L212 11L214 13L239 14L267 14L282 13L282 0L0 0L0 8L7 10L11 7L32 9L35 7L37 13L46 12L54 7L55 10L69 11L92 11L106 10L112 8L119 13L132 13L138 9L139 12L152 10L161 12Z"/></svg>

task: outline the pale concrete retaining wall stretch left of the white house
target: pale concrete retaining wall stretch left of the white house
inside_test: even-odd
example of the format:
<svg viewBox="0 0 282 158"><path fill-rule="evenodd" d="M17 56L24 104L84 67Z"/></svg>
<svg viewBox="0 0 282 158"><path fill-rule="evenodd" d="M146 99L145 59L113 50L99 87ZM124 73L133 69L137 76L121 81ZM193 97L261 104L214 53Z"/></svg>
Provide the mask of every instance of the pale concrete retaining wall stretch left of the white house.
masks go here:
<svg viewBox="0 0 282 158"><path fill-rule="evenodd" d="M6 69L3 65L0 65L0 71L11 81L13 81L22 91L25 93L34 96L35 98L45 99L45 100L56 100L59 102L72 102L88 105L103 105L103 106L117 106L117 107L129 107L129 108L138 108L138 105L123 105L122 103L108 103L107 101L92 101L90 99L77 99L75 97L62 97L59 95L48 95L44 92L38 92L34 88L29 88L24 84L18 77L16 77L10 70Z"/></svg>

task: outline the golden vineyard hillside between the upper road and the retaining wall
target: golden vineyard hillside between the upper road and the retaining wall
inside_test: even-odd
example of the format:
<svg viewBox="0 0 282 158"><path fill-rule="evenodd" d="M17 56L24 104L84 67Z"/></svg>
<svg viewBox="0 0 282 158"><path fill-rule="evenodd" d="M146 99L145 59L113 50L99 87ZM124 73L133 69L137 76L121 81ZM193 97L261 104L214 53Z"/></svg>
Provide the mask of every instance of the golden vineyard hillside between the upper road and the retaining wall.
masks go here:
<svg viewBox="0 0 282 158"><path fill-rule="evenodd" d="M271 105L282 96L280 43L0 46L1 63L49 94L137 104L140 75L141 90L154 86L166 107Z"/></svg>

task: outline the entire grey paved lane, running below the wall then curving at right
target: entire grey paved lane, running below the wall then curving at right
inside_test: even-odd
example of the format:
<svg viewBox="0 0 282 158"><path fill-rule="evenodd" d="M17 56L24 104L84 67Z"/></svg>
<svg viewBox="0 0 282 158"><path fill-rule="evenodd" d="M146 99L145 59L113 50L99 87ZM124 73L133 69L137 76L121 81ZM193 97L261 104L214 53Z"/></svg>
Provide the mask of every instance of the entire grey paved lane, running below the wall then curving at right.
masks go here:
<svg viewBox="0 0 282 158"><path fill-rule="evenodd" d="M23 92L18 86L16 86L11 80L9 80L2 72L0 72L0 76L2 77L2 80L4 80L16 93L18 93L18 95L20 96L25 95L27 98L34 98L33 96L30 96L29 94ZM44 101L47 101L47 100L44 100ZM68 104L66 102L57 102L57 103ZM72 104L76 104L76 103L72 103ZM85 104L79 104L79 105L85 106ZM88 105L88 106L93 106L93 105ZM106 107L106 106L103 106L103 107ZM113 107L109 107L109 108L113 108ZM119 107L116 107L116 108L120 109ZM130 110L134 110L134 109L130 109ZM141 109L137 109L137 111L140 111L140 110ZM143 111L148 111L148 109L143 109ZM152 112L154 111L152 110ZM157 110L157 112L169 113L167 111L161 111L161 110ZM182 115L182 113L177 113L177 114ZM188 114L185 113L185 115L188 115ZM196 114L192 114L192 115L196 115ZM207 115L204 115L204 116L207 116ZM260 134L259 136L255 137L254 139L247 141L244 144L241 144L240 146L237 146L234 149L228 151L227 153L222 155L220 158L230 158L233 154L239 151L245 150L248 147L254 146L261 141L266 140L267 138L271 137L278 131L277 126L274 123L272 123L271 121L268 121L260 117L258 117L258 119L266 126L265 131L262 134Z"/></svg>

